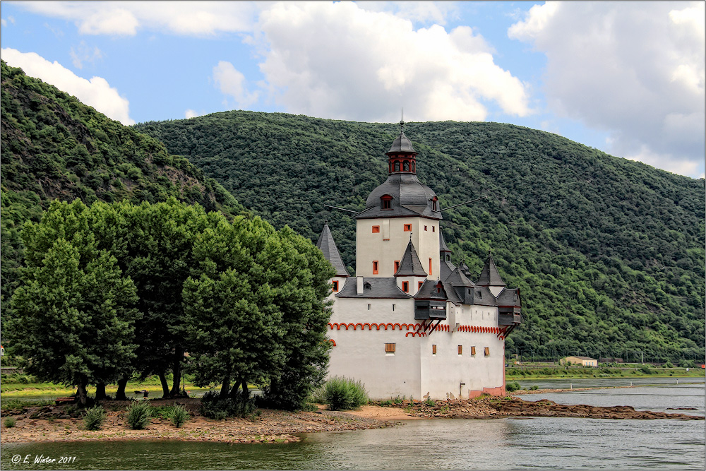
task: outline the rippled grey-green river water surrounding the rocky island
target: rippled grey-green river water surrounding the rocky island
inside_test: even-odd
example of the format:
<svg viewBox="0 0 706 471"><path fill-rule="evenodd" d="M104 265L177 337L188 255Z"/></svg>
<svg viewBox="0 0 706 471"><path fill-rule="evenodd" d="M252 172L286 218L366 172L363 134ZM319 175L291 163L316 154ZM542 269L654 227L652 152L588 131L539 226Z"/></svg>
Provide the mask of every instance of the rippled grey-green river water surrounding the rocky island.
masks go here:
<svg viewBox="0 0 706 471"><path fill-rule="evenodd" d="M599 381L616 386L614 380ZM635 381L635 380L633 380ZM695 384L573 391L524 395L558 403L633 405L704 415L703 380ZM573 383L576 383L574 380ZM653 381L654 382L654 381ZM660 382L660 381L658 381ZM681 382L681 380L680 380ZM545 386L527 381L523 386ZM574 387L583 387L575 386ZM693 407L668 410L667 407ZM527 419L409 420L397 427L304 434L299 443L229 445L175 441L110 441L5 444L4 470L30 469L640 469L703 470L705 422L680 420L608 420L564 417ZM75 456L70 465L13 465L14 455Z"/></svg>

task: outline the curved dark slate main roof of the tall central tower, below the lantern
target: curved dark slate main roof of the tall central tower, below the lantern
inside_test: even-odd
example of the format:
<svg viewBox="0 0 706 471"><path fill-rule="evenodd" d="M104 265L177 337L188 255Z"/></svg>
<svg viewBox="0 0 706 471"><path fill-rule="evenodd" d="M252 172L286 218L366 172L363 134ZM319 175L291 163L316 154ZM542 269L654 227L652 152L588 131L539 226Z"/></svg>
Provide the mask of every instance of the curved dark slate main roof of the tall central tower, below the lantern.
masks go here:
<svg viewBox="0 0 706 471"><path fill-rule="evenodd" d="M393 197L390 209L383 210L380 198ZM388 179L371 191L365 202L365 209L355 217L399 217L424 216L430 219L443 219L441 213L431 210L431 200L436 193L421 183L415 174L391 174Z"/></svg>

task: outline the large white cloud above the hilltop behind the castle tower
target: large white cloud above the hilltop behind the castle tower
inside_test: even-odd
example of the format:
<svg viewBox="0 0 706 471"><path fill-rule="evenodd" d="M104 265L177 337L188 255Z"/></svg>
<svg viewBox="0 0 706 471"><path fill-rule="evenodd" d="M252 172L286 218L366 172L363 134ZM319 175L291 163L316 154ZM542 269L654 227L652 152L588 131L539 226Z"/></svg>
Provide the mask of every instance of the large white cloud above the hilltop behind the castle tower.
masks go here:
<svg viewBox="0 0 706 471"><path fill-rule="evenodd" d="M414 30L367 4L281 3L263 11L261 64L287 111L335 119L483 120L487 102L530 113L524 85L467 27ZM265 47L266 46L266 47Z"/></svg>

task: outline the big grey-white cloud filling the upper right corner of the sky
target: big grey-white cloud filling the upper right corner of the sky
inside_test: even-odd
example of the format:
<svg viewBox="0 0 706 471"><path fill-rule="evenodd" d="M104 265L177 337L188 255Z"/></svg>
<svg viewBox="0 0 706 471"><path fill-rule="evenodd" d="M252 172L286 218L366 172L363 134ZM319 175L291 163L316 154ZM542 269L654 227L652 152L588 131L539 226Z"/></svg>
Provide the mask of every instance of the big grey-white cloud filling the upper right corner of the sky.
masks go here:
<svg viewBox="0 0 706 471"><path fill-rule="evenodd" d="M558 115L611 133L610 153L700 176L704 4L551 2L508 30L547 57Z"/></svg>

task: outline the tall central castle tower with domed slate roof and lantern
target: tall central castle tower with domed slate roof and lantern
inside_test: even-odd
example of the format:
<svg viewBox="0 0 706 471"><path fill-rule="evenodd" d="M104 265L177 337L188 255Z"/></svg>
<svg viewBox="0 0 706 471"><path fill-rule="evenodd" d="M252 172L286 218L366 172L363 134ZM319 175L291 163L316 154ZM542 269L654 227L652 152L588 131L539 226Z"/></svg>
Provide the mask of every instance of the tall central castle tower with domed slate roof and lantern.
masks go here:
<svg viewBox="0 0 706 471"><path fill-rule="evenodd" d="M355 216L356 275L394 276L411 241L426 278L438 280L438 198L417 178L417 151L405 136L404 124L400 121L400 136L385 154L388 179L371 191L366 208Z"/></svg>

